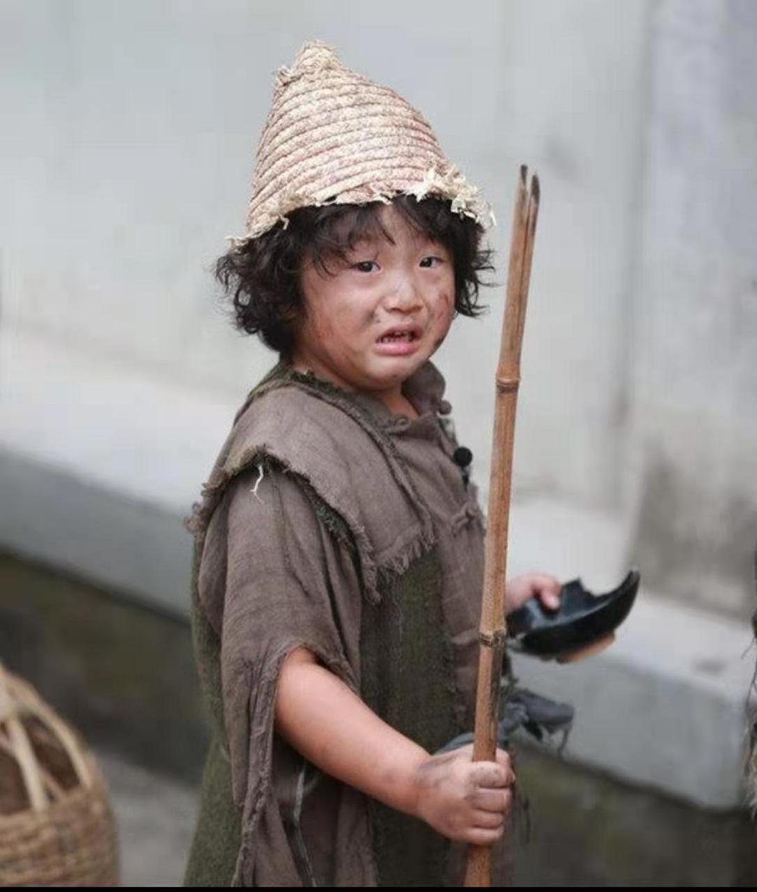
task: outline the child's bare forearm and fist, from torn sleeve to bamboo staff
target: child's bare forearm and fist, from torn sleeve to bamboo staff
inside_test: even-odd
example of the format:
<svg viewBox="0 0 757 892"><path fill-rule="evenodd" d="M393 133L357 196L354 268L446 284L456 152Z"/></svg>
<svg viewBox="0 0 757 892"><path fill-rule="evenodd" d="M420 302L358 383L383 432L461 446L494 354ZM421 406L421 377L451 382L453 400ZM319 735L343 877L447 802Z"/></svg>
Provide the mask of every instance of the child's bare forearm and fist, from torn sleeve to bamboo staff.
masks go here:
<svg viewBox="0 0 757 892"><path fill-rule="evenodd" d="M383 722L307 648L284 660L276 730L321 771L450 839L490 846L502 836L514 783L510 757L472 747L431 756Z"/></svg>

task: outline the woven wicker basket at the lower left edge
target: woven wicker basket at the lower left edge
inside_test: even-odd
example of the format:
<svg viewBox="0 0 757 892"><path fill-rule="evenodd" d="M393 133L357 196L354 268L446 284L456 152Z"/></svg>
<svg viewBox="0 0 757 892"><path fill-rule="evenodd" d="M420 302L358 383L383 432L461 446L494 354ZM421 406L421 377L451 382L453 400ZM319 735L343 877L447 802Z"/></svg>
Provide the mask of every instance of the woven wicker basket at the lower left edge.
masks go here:
<svg viewBox="0 0 757 892"><path fill-rule="evenodd" d="M0 885L118 885L115 822L95 759L2 664Z"/></svg>

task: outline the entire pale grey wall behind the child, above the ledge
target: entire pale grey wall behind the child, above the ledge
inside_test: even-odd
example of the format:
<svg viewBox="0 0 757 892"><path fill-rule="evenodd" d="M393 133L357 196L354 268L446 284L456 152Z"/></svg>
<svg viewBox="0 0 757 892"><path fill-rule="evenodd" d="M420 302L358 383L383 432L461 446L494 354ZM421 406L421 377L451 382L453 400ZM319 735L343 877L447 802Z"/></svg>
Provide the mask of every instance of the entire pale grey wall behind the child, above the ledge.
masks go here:
<svg viewBox="0 0 757 892"><path fill-rule="evenodd" d="M272 72L305 39L325 39L424 111L490 197L500 281L517 166L539 170L518 504L620 521L619 565L639 562L663 594L745 615L757 538L757 5L460 10L4 0L4 343L240 400L274 357L227 325L208 268L243 227ZM458 320L438 354L481 483L502 289L486 296L490 315ZM63 366L29 374L60 383ZM73 411L78 393L62 400ZM145 458L153 475L165 452ZM205 470L187 472L187 506ZM133 462L124 473L142 472Z"/></svg>

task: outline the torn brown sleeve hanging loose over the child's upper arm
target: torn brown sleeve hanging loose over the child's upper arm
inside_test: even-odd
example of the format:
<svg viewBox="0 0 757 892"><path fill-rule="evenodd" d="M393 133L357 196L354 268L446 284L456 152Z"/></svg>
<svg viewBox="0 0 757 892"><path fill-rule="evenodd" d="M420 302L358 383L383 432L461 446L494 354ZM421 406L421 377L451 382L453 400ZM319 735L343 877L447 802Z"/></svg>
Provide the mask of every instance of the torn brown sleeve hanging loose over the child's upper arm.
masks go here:
<svg viewBox="0 0 757 892"><path fill-rule="evenodd" d="M235 884L299 885L282 814L285 788L296 780L274 764L276 684L284 657L302 646L358 690L358 577L300 478L252 467L226 495L221 679L242 812Z"/></svg>

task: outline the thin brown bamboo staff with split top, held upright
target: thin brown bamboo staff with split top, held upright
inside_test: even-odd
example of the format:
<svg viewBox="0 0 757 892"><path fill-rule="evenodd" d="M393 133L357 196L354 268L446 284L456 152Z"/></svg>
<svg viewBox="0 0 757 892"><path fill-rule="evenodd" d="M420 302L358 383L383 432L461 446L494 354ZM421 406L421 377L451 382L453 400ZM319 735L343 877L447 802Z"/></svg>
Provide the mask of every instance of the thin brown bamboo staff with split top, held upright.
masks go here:
<svg viewBox="0 0 757 892"><path fill-rule="evenodd" d="M499 679L505 656L505 584L507 527L510 516L510 481L518 384L521 380L521 345L526 300L531 278L533 239L539 212L539 178L523 165L518 178L507 268L507 302L502 321L491 449L489 517L486 533L483 593L481 596L481 649L479 653L473 760L494 761L497 749ZM471 846L465 873L466 886L490 885L489 846Z"/></svg>

